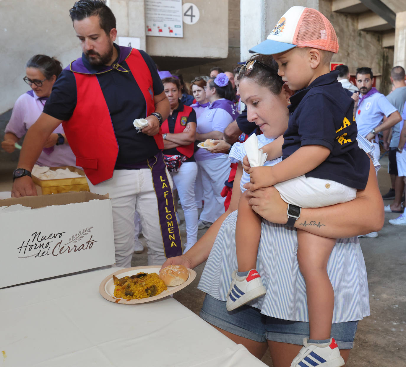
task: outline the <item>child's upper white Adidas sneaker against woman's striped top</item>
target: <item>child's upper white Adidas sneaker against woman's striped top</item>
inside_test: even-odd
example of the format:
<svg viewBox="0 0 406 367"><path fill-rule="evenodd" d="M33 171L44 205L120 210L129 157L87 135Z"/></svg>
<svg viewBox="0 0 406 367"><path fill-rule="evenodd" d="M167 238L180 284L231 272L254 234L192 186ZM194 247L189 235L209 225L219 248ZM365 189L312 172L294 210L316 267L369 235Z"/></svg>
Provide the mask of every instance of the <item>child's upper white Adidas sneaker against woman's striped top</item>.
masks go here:
<svg viewBox="0 0 406 367"><path fill-rule="evenodd" d="M266 293L261 276L255 269L251 269L246 277L238 277L235 270L231 277L233 280L227 293L227 311L232 311Z"/></svg>

